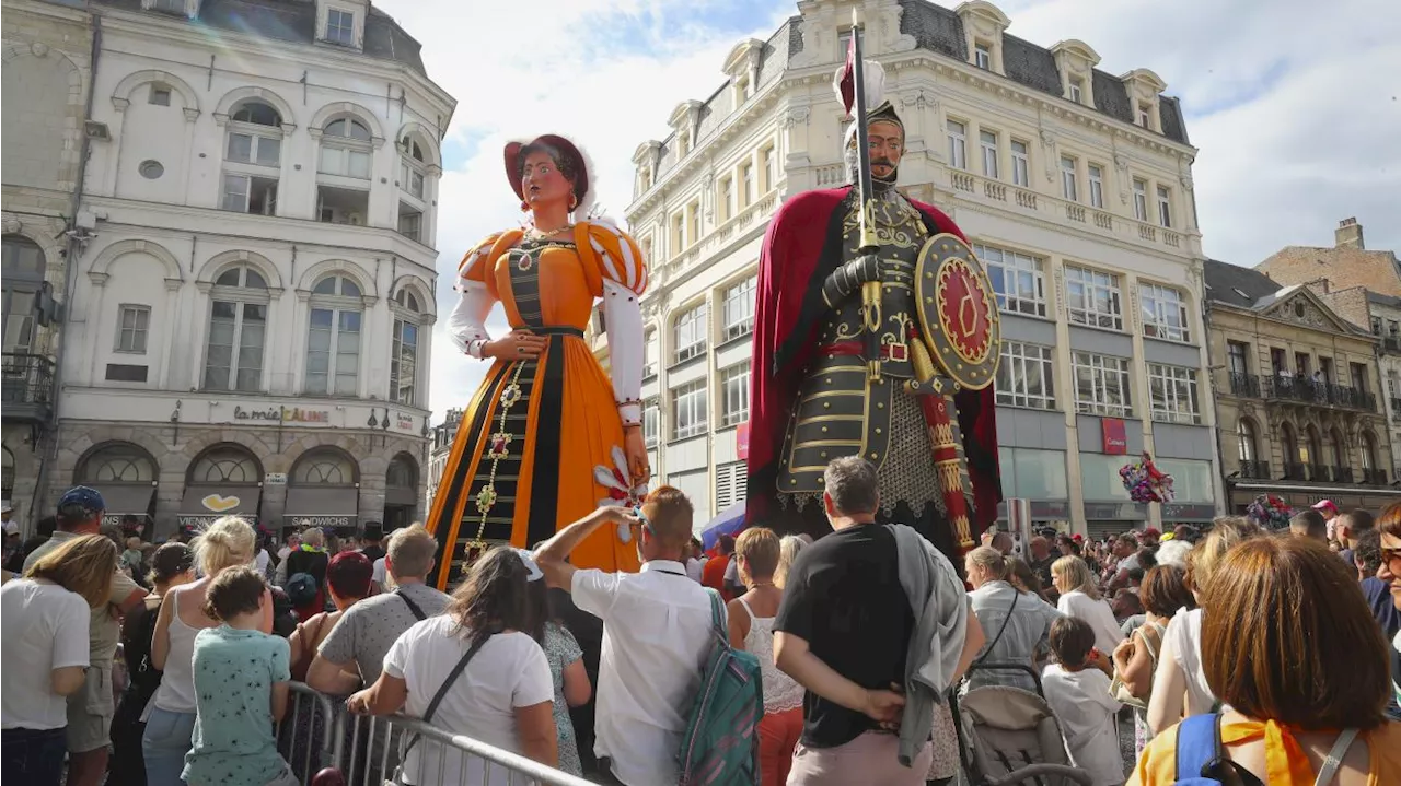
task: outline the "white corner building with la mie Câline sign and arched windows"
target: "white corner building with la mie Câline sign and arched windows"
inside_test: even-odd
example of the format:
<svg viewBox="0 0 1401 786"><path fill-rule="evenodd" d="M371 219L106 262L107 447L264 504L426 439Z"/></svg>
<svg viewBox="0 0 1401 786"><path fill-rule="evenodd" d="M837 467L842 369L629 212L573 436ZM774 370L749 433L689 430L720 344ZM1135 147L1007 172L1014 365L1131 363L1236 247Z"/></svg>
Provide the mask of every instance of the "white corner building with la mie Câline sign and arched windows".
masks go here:
<svg viewBox="0 0 1401 786"><path fill-rule="evenodd" d="M419 517L454 110L419 45L364 0L92 7L50 495L94 485L157 534Z"/></svg>

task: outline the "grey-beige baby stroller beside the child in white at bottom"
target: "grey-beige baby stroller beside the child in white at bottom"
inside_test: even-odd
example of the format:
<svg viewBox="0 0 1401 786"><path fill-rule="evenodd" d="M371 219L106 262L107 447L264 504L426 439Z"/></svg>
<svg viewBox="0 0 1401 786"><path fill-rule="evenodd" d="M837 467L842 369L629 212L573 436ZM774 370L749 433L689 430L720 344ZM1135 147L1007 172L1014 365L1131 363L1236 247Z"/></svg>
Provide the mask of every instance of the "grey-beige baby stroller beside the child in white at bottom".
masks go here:
<svg viewBox="0 0 1401 786"><path fill-rule="evenodd" d="M1037 689L984 685L953 702L958 757L971 786L1093 786L1089 772L1070 765L1061 723L1045 701L1035 669L1021 663L968 669L975 670L1026 671Z"/></svg>

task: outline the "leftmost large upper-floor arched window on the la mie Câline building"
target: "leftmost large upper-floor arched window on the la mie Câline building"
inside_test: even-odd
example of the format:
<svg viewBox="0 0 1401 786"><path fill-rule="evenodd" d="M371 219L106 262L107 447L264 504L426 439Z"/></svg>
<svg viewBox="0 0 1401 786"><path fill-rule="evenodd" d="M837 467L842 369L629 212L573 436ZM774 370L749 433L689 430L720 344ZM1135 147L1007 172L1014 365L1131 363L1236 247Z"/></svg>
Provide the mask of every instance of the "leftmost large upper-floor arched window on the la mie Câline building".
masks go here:
<svg viewBox="0 0 1401 786"><path fill-rule="evenodd" d="M282 115L268 103L245 101L234 108L224 147L221 208L277 214L282 137Z"/></svg>

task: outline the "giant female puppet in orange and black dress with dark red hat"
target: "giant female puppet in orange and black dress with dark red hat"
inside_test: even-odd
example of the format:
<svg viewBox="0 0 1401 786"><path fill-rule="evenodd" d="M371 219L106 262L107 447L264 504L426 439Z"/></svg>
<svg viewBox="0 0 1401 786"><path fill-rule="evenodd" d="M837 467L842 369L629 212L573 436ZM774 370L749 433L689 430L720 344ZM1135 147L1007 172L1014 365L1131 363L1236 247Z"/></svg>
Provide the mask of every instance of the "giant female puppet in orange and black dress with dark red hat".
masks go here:
<svg viewBox="0 0 1401 786"><path fill-rule="evenodd" d="M542 136L506 145L506 175L531 214L528 228L486 238L458 270L461 299L448 331L492 368L462 417L429 530L441 555L432 580L455 583L462 562L489 543L528 547L593 510L626 503L650 476L642 436L642 252L588 215L587 158ZM584 341L602 298L612 380ZM502 303L511 331L488 336ZM577 548L580 568L636 571L626 530L600 530Z"/></svg>

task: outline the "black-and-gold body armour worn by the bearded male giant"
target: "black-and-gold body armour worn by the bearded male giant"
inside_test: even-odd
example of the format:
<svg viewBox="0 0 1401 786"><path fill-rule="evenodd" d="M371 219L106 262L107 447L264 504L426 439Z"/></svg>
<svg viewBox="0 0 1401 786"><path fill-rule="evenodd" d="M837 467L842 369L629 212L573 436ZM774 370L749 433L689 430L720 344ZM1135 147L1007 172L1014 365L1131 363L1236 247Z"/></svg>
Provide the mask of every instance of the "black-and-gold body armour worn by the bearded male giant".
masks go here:
<svg viewBox="0 0 1401 786"><path fill-rule="evenodd" d="M855 192L853 192L855 193ZM860 242L855 199L843 203L842 262L856 259ZM817 358L808 366L789 422L779 491L822 491L828 462L862 455L880 467L890 446L892 390L913 376L909 344L918 341L915 262L927 231L904 197L877 200L876 235L881 270L881 372L866 375L862 296L853 294L821 323Z"/></svg>

